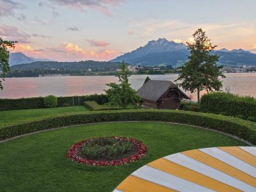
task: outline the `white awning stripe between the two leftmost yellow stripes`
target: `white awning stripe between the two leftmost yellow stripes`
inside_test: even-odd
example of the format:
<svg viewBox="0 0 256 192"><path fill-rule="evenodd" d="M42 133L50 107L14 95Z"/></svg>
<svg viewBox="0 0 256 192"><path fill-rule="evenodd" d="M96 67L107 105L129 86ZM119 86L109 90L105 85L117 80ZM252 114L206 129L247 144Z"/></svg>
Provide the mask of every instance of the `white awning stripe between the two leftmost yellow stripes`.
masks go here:
<svg viewBox="0 0 256 192"><path fill-rule="evenodd" d="M212 191L211 189L204 188L203 186L180 179L179 177L175 177L174 175L170 175L147 165L136 170L132 175L177 191Z"/></svg>

